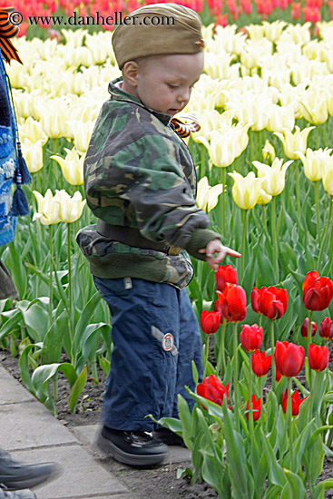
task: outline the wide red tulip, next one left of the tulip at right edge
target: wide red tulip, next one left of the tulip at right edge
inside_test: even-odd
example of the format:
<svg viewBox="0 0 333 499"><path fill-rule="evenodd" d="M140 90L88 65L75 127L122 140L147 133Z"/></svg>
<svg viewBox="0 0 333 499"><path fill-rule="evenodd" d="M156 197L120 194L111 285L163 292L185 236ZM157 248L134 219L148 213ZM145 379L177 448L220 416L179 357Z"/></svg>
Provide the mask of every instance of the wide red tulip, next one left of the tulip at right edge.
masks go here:
<svg viewBox="0 0 333 499"><path fill-rule="evenodd" d="M288 305L287 289L263 286L260 289L254 287L251 291L251 306L253 310L273 320L281 318L286 312Z"/></svg>

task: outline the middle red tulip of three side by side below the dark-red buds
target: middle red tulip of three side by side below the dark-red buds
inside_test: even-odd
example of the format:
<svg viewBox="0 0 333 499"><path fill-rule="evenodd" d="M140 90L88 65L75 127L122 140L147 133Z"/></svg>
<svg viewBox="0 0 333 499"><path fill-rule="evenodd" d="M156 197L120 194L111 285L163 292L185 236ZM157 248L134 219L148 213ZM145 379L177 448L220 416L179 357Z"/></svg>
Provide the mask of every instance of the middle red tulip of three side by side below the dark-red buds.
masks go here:
<svg viewBox="0 0 333 499"><path fill-rule="evenodd" d="M274 358L279 374L293 377L299 373L303 366L304 348L288 341L277 341Z"/></svg>

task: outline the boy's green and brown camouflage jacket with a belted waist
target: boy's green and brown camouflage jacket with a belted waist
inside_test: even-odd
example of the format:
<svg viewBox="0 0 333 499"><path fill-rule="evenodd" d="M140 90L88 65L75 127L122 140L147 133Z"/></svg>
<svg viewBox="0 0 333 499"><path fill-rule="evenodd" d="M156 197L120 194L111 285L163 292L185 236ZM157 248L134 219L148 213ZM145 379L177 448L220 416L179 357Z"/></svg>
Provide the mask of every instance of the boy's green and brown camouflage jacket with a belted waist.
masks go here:
<svg viewBox="0 0 333 499"><path fill-rule="evenodd" d="M111 98L97 118L84 161L89 208L105 222L140 230L147 240L184 249L177 256L136 248L103 237L96 225L76 240L101 278L138 278L181 289L193 276L191 259L220 235L207 227L208 215L195 204L196 173L191 154L173 131L170 116L109 84Z"/></svg>

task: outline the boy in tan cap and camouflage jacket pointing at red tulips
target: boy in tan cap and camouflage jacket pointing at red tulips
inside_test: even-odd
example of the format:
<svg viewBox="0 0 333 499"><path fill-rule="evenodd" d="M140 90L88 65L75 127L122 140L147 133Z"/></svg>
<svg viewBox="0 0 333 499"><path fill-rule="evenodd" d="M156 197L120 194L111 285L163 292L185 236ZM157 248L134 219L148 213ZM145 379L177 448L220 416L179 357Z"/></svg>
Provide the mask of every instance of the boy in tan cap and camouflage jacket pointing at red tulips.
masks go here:
<svg viewBox="0 0 333 499"><path fill-rule="evenodd" d="M129 19L113 34L122 78L109 85L84 162L97 227L80 230L77 241L113 319L99 444L142 466L160 463L162 440L177 436L164 428L162 440L158 430L150 435L155 425L145 416L177 417L178 393L192 407L184 389L195 387L192 360L202 376L201 333L184 289L193 269L183 249L212 269L240 254L207 229L210 219L195 205L191 154L171 124L203 68L200 17L155 4Z"/></svg>

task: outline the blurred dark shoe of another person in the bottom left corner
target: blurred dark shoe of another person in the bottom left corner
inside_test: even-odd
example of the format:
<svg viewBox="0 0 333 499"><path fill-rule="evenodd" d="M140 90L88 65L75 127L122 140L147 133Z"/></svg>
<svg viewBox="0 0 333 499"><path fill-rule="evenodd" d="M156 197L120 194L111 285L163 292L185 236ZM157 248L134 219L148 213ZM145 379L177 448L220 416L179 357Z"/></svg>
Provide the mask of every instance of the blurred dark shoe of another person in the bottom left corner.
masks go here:
<svg viewBox="0 0 333 499"><path fill-rule="evenodd" d="M0 484L4 484L9 490L34 487L35 485L42 484L45 480L55 478L59 473L60 466L56 463L25 465L24 463L18 463L12 459L11 455L0 449ZM8 497L11 496L9 495ZM32 495L31 497L34 496ZM0 499L2 499L1 495Z"/></svg>

